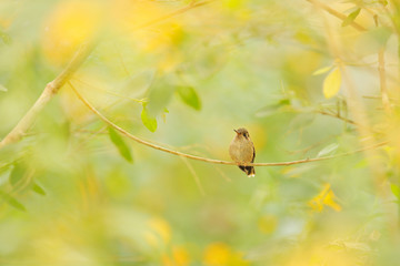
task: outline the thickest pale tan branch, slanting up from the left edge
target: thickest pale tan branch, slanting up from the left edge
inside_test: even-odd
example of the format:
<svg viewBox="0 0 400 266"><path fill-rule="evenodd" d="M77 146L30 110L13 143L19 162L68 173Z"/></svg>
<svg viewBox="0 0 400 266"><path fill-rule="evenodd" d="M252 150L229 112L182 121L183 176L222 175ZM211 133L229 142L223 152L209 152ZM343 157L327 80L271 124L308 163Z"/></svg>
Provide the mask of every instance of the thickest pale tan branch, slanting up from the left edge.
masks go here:
<svg viewBox="0 0 400 266"><path fill-rule="evenodd" d="M18 124L8 133L8 135L0 142L0 149L7 144L19 141L26 131L33 124L38 113L46 106L46 104L53 98L53 95L63 86L70 76L83 63L87 57L92 51L93 45L86 43L82 44L74 53L72 60L67 68L50 83L48 83L40 94L39 99L34 102L33 106L24 114Z"/></svg>

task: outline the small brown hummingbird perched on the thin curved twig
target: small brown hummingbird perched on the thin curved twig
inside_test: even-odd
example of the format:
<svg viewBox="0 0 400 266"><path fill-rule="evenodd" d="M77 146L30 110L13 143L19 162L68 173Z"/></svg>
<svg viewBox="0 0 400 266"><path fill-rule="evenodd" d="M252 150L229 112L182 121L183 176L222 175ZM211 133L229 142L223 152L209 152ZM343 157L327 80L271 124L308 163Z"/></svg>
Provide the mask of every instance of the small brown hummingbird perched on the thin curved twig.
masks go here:
<svg viewBox="0 0 400 266"><path fill-rule="evenodd" d="M254 144L250 140L249 132L243 127L233 131L236 132L236 136L229 146L229 155L231 158L240 164L254 162L256 150ZM248 177L256 176L253 166L239 165L239 168L243 171Z"/></svg>

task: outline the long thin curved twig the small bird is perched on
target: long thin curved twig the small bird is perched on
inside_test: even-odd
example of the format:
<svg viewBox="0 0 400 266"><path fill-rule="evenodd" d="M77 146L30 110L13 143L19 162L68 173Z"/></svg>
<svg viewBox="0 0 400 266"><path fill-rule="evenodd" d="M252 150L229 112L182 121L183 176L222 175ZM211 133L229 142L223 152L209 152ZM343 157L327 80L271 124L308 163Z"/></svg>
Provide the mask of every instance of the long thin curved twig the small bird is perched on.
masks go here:
<svg viewBox="0 0 400 266"><path fill-rule="evenodd" d="M79 100L87 105L97 116L99 116L103 122L106 122L108 125L110 125L111 127L113 127L114 130L117 130L118 132L120 132L122 135L140 143L143 144L146 146L166 152L166 153L170 153L173 155L178 155L181 157L187 157L187 158L191 158L191 160L196 160L196 161L201 161L201 162L206 162L206 163L212 163L212 164L224 164L224 165L238 165L238 163L236 162L228 162L228 161L221 161L221 160L214 160L214 158L207 158L207 157L200 157L200 156L196 156L196 155L191 155L191 154L187 154L187 153L182 153L182 152L178 152L178 151L173 151L160 145L156 145L151 142L144 141L142 139L139 139L138 136L132 135L131 133L129 133L128 131L123 130L122 127L116 125L114 123L112 123L109 119L107 119L103 114L101 114L93 105L91 105L90 102L88 102L88 100L86 100L86 98L80 94L78 92L78 90L71 84L71 82L68 82L68 84L71 86L71 89L74 91L74 93L77 94L77 96L79 98ZM287 166L287 165L293 165L293 164L301 164L301 163L310 163L310 162L319 162L319 161L326 161L326 160L331 160L331 158L338 158L338 157L342 157L342 156L348 156L348 155L352 155L356 153L361 153L364 152L367 150L372 150L372 149L377 149L380 146L383 146L386 144L388 144L388 141L384 142L380 142L370 146L366 146L363 149L359 149L352 152L347 152L347 153L341 153L341 154L337 154L337 155L331 155L331 156L324 156L324 157L316 157L316 158L303 158L303 160L298 160L298 161L290 161L290 162L278 162L278 163L248 163L246 164L247 166Z"/></svg>

